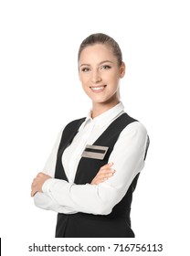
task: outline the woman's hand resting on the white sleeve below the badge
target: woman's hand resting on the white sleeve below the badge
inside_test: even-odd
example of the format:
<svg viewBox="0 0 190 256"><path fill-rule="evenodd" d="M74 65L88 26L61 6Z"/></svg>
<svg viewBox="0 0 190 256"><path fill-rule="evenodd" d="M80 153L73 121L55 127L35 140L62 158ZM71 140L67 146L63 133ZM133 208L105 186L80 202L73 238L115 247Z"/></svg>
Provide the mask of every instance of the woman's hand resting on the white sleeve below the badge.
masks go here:
<svg viewBox="0 0 190 256"><path fill-rule="evenodd" d="M91 185L99 185L101 182L104 182L109 177L113 176L115 173L115 170L111 169L111 166L113 163L103 165L100 167L100 171L98 174L92 179Z"/></svg>

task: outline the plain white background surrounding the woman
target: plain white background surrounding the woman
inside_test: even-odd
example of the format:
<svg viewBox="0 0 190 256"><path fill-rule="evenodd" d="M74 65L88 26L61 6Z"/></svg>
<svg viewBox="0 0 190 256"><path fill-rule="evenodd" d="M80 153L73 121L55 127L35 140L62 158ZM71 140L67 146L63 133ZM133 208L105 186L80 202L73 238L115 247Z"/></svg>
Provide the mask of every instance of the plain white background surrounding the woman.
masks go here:
<svg viewBox="0 0 190 256"><path fill-rule="evenodd" d="M188 2L0 2L3 255L31 255L27 246L33 242L58 243L53 239L56 213L34 206L30 185L59 130L90 109L79 83L77 54L80 42L96 32L106 33L120 44L127 66L121 101L125 111L146 126L151 138L133 197L132 228L137 238L132 242L164 243L159 255L187 255Z"/></svg>

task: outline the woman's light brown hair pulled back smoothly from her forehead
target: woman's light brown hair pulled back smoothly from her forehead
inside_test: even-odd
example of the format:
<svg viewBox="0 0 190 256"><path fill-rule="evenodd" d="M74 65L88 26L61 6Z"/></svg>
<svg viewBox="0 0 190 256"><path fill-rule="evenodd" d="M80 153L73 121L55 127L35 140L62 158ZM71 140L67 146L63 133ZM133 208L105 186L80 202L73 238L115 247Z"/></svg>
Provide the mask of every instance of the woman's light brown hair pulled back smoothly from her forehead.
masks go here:
<svg viewBox="0 0 190 256"><path fill-rule="evenodd" d="M108 35L105 35L102 33L91 34L89 37L85 38L81 42L81 44L79 46L78 62L79 62L79 58L80 58L80 54L81 54L82 50L84 48L93 46L95 44L102 44L102 45L107 45L108 47L110 47L113 52L113 55L118 59L119 66L121 66L122 53L121 53L120 46L112 37L109 37Z"/></svg>

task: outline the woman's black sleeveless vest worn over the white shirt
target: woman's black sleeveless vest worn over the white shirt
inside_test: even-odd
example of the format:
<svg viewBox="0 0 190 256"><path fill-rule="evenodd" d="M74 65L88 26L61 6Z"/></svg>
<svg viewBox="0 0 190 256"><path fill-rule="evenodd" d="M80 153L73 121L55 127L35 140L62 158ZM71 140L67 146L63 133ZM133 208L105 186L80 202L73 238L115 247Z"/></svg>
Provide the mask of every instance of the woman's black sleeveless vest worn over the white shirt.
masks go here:
<svg viewBox="0 0 190 256"><path fill-rule="evenodd" d="M72 143L74 136L78 133L79 126L85 121L85 118L75 120L69 123L64 129L58 148L58 157L55 178L68 181L65 174L61 157L66 147ZM118 140L121 131L136 120L127 113L121 114L110 126L100 135L94 143L95 145L108 146L109 150L103 160L81 157L75 176L74 183L83 185L90 183L94 176L100 170L102 165L108 163L114 144ZM126 145L130 146L130 145ZM56 228L57 238L132 238L134 233L131 229L131 203L132 192L137 183L138 176L132 181L127 193L121 201L112 208L109 215L93 215L87 213L62 214L58 213L58 222ZM64 195L63 195L64 197Z"/></svg>

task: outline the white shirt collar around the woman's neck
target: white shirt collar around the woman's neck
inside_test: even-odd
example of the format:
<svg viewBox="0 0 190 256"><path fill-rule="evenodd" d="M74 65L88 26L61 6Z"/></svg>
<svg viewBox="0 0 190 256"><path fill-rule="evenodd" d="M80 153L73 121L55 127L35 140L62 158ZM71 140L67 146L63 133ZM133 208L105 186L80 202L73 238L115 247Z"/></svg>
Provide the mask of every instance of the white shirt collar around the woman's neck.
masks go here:
<svg viewBox="0 0 190 256"><path fill-rule="evenodd" d="M99 125L100 127L103 127L104 125L111 123L118 115L121 114L121 112L124 112L124 106L122 102L119 102L116 106L108 110L107 112L101 113L99 116L95 117L94 119L91 118L91 111L86 117L85 122L83 123L83 127L87 123L93 122L95 125Z"/></svg>

